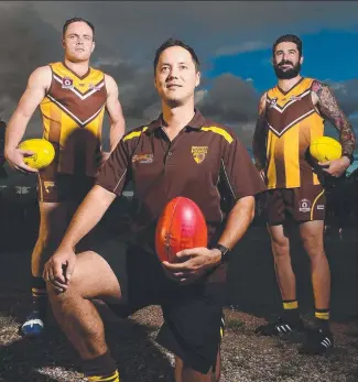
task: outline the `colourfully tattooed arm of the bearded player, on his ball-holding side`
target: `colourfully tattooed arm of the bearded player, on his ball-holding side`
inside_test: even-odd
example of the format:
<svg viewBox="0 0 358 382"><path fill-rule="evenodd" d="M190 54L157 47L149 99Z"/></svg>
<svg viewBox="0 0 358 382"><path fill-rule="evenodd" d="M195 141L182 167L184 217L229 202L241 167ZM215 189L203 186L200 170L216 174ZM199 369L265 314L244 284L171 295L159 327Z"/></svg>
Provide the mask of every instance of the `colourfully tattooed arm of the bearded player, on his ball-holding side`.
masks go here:
<svg viewBox="0 0 358 382"><path fill-rule="evenodd" d="M332 124L339 131L339 141L344 154L352 154L356 146L356 135L347 117L337 105L336 98L329 87L315 80L312 90L318 97L318 109Z"/></svg>

